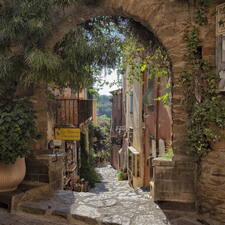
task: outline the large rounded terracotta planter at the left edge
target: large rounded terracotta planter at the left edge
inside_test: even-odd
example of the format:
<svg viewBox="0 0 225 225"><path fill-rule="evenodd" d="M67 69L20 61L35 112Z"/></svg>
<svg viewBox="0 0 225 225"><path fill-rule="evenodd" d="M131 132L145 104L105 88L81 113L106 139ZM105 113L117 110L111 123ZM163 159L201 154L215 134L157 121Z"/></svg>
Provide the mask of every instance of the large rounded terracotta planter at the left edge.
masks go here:
<svg viewBox="0 0 225 225"><path fill-rule="evenodd" d="M13 191L23 181L26 166L24 158L17 158L14 164L0 163L0 192Z"/></svg>

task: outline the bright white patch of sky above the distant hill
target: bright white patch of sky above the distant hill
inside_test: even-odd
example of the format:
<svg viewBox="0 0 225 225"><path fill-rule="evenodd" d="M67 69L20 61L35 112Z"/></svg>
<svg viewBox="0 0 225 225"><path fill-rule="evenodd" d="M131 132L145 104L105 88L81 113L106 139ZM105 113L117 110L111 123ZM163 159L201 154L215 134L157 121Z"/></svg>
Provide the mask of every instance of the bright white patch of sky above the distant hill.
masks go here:
<svg viewBox="0 0 225 225"><path fill-rule="evenodd" d="M113 81L117 81L117 71L113 70L111 74L107 74L105 76L104 72L102 72L102 79L105 81L112 83ZM117 85L113 85L110 87L110 85L104 85L103 88L99 91L100 95L111 95L110 92L119 89Z"/></svg>

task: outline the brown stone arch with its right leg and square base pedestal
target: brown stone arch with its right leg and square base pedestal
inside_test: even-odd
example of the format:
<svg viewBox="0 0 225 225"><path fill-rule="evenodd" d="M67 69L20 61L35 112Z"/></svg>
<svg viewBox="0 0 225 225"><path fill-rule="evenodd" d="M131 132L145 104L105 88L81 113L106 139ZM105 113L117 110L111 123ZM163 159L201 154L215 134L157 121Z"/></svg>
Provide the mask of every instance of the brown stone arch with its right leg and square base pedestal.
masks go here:
<svg viewBox="0 0 225 225"><path fill-rule="evenodd" d="M186 52L184 34L191 21L190 8L179 1L167 0L105 0L98 7L74 5L59 13L46 47L54 45L75 25L97 16L124 16L140 22L151 30L166 48L172 63L173 149L170 162L155 163L155 200L195 201L195 164L185 145L187 115L180 86Z"/></svg>

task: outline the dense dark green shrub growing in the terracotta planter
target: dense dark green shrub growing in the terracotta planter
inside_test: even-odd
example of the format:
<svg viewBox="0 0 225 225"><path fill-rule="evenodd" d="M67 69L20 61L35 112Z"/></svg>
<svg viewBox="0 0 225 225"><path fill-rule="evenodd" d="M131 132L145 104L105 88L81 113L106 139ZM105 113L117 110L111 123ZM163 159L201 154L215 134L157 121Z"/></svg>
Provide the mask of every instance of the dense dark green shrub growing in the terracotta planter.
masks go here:
<svg viewBox="0 0 225 225"><path fill-rule="evenodd" d="M0 103L0 162L14 163L29 153L30 141L37 137L32 104L24 100Z"/></svg>

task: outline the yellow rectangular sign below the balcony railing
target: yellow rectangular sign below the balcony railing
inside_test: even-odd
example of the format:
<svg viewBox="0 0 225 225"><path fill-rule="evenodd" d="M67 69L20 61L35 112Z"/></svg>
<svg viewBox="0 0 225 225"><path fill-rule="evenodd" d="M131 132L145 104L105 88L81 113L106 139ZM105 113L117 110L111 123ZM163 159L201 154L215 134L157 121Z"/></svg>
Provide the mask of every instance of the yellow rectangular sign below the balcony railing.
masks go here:
<svg viewBox="0 0 225 225"><path fill-rule="evenodd" d="M62 141L79 141L79 128L55 128L55 139Z"/></svg>

